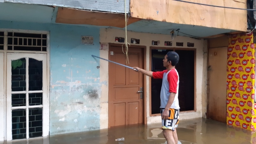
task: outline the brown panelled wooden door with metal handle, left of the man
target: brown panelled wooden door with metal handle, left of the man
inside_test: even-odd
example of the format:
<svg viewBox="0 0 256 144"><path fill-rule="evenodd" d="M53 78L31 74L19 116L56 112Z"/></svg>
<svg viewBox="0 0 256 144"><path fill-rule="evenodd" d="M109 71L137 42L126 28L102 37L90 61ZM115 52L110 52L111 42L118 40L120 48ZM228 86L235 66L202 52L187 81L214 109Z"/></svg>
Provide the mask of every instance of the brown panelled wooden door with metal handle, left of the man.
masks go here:
<svg viewBox="0 0 256 144"><path fill-rule="evenodd" d="M129 62L125 64L122 47L110 46L109 60L142 68L142 50L129 48ZM125 51L125 48L124 48ZM111 54L113 52L113 55ZM142 123L143 99L140 98L142 74L109 62L108 127Z"/></svg>

